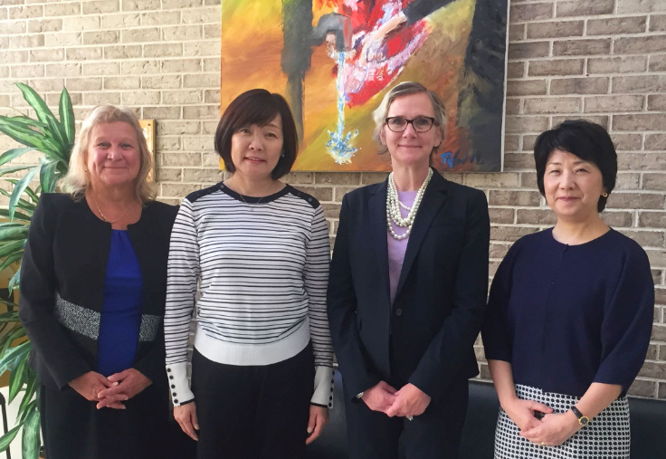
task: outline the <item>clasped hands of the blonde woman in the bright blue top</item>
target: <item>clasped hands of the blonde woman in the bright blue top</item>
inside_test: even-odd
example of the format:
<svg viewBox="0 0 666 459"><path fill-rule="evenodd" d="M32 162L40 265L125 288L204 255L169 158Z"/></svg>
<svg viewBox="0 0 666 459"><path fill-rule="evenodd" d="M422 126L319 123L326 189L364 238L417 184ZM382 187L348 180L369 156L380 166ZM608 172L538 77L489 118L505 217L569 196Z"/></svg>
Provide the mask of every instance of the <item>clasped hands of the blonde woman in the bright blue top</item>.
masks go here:
<svg viewBox="0 0 666 459"><path fill-rule="evenodd" d="M97 407L125 409L128 399L150 386L152 381L135 368L128 368L120 373L105 378L96 371L89 371L70 381L70 387L81 397L91 402L98 402Z"/></svg>

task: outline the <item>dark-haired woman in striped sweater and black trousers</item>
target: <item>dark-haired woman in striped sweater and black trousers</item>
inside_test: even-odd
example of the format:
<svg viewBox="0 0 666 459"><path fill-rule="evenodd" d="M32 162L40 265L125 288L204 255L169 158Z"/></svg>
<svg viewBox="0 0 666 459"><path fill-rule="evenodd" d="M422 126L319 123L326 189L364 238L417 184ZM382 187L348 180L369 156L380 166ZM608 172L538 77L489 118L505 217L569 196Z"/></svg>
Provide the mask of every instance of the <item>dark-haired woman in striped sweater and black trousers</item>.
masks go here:
<svg viewBox="0 0 666 459"><path fill-rule="evenodd" d="M298 152L280 95L252 90L233 100L215 148L233 176L187 196L171 236L165 336L174 416L198 440L199 459L300 458L332 402L328 226L314 197L279 180Z"/></svg>

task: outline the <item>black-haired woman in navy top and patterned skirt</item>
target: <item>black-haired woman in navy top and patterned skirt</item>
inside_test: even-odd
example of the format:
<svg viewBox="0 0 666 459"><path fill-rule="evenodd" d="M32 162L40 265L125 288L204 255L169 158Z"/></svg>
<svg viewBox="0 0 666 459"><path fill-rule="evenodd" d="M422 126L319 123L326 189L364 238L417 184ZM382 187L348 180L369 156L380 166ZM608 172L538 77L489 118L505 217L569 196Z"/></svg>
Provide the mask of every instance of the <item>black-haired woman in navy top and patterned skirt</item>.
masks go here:
<svg viewBox="0 0 666 459"><path fill-rule="evenodd" d="M617 154L604 128L570 120L541 134L534 156L557 224L513 244L490 289L495 457L626 458L624 396L650 342L654 285L641 246L599 215Z"/></svg>

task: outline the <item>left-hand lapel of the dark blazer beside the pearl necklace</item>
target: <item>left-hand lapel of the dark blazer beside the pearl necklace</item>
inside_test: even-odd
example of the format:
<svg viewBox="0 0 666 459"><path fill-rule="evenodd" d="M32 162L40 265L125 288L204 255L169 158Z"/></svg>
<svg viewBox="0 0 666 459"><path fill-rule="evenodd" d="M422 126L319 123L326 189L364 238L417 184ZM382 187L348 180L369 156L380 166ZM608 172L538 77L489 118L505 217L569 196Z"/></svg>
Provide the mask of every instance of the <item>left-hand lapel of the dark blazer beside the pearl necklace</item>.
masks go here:
<svg viewBox="0 0 666 459"><path fill-rule="evenodd" d="M379 186L376 194L370 197L370 237L375 244L379 292L382 292L382 301L390 305L390 290L388 284L388 242L386 241L386 188L388 180Z"/></svg>

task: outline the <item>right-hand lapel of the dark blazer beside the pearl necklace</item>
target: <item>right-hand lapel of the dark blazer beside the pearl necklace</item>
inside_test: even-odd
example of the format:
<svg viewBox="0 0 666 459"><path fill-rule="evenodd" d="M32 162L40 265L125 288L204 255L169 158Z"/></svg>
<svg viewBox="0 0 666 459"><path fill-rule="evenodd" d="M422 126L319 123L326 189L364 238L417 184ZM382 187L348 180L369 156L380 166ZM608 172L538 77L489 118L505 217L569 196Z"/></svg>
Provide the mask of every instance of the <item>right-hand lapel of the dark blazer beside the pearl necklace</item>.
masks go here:
<svg viewBox="0 0 666 459"><path fill-rule="evenodd" d="M446 179L440 176L437 171L433 171L433 178L425 188L421 205L416 212L416 218L414 218L412 233L409 234L407 250L404 252L403 269L400 271L400 280L398 281L398 287L395 291L395 298L400 294L400 290L403 288L407 274L409 274L409 270L412 269L412 264L414 264L416 254L419 252L421 244L423 244L425 234L428 234L430 225L433 223L434 215L437 215L440 208L446 202L447 188L448 183Z"/></svg>

